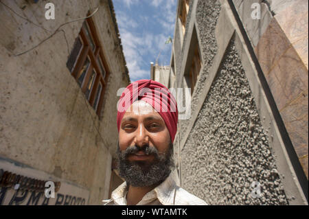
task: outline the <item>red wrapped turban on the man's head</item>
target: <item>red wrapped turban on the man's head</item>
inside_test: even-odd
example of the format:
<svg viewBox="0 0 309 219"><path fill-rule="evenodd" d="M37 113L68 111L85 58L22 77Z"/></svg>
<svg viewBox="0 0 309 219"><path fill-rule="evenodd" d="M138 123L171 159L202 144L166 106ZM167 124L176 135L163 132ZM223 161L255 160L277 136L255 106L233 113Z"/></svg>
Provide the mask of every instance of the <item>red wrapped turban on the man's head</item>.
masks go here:
<svg viewBox="0 0 309 219"><path fill-rule="evenodd" d="M147 102L161 115L174 142L178 122L177 103L172 93L163 84L154 80L137 80L126 87L117 103L118 132L124 113L137 100Z"/></svg>

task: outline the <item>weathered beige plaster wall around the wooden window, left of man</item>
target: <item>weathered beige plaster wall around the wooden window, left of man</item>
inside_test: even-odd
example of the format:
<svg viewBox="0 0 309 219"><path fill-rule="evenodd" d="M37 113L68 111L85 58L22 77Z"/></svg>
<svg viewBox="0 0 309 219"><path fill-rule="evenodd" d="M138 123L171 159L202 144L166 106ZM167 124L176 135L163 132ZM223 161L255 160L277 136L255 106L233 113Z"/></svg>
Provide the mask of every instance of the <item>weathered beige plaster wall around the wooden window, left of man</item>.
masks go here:
<svg viewBox="0 0 309 219"><path fill-rule="evenodd" d="M113 3L49 2L54 20L45 19L47 1L0 3L0 174L61 186L48 202L36 189L14 189L0 180L1 204L100 205L108 198L117 147L117 89L130 83ZM110 72L100 117L66 65L83 20L63 25L63 31L16 56L95 8L92 19Z"/></svg>

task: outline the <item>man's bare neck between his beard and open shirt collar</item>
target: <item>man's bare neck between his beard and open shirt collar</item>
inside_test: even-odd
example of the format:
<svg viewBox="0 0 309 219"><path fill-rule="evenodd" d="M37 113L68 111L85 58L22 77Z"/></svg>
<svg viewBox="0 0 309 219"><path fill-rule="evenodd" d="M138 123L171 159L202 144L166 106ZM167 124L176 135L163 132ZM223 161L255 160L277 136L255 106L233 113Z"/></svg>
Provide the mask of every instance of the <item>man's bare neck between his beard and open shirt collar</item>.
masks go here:
<svg viewBox="0 0 309 219"><path fill-rule="evenodd" d="M126 194L127 205L136 205L148 192L150 192L152 189L155 189L155 187L157 187L159 184L160 183L157 183L155 185L146 187L134 187L129 185L128 194Z"/></svg>

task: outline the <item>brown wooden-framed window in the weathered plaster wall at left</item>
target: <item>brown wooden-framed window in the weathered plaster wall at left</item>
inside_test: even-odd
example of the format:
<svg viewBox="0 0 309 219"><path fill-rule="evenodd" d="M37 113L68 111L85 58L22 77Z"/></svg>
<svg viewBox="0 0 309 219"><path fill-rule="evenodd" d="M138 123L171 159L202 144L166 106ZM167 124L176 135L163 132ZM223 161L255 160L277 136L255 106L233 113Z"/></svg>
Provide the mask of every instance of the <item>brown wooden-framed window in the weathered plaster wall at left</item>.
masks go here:
<svg viewBox="0 0 309 219"><path fill-rule="evenodd" d="M89 104L100 115L109 71L91 18L82 24L67 60L67 68L80 85Z"/></svg>

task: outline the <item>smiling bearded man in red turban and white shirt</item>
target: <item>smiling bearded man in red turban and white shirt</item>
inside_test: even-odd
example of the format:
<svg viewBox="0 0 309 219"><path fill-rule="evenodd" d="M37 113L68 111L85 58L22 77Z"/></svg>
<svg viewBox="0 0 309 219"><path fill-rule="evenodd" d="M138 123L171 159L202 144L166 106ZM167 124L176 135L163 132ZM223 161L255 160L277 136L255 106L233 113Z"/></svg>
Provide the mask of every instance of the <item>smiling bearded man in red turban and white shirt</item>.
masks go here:
<svg viewBox="0 0 309 219"><path fill-rule="evenodd" d="M119 175L126 181L104 205L207 205L171 176L178 110L170 91L153 80L133 82L117 111Z"/></svg>

